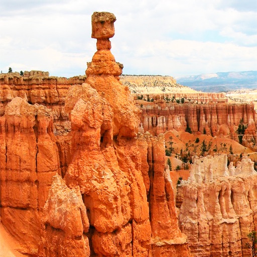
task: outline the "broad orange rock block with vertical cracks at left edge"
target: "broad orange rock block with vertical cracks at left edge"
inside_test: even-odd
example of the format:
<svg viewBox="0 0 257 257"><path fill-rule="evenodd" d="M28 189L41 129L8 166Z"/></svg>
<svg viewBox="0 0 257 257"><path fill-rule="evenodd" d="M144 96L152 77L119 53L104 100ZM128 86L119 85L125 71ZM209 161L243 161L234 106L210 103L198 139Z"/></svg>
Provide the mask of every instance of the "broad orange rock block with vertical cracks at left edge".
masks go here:
<svg viewBox="0 0 257 257"><path fill-rule="evenodd" d="M60 172L51 110L14 98L0 118L1 218L24 252L35 254L39 213Z"/></svg>

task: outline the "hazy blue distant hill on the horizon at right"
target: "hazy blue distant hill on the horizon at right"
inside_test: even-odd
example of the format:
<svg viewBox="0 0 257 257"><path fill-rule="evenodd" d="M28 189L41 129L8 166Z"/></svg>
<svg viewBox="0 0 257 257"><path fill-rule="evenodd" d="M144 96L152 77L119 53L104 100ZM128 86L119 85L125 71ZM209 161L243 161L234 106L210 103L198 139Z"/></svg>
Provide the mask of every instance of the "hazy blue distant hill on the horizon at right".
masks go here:
<svg viewBox="0 0 257 257"><path fill-rule="evenodd" d="M257 71L217 72L175 77L177 83L202 92L256 89Z"/></svg>

